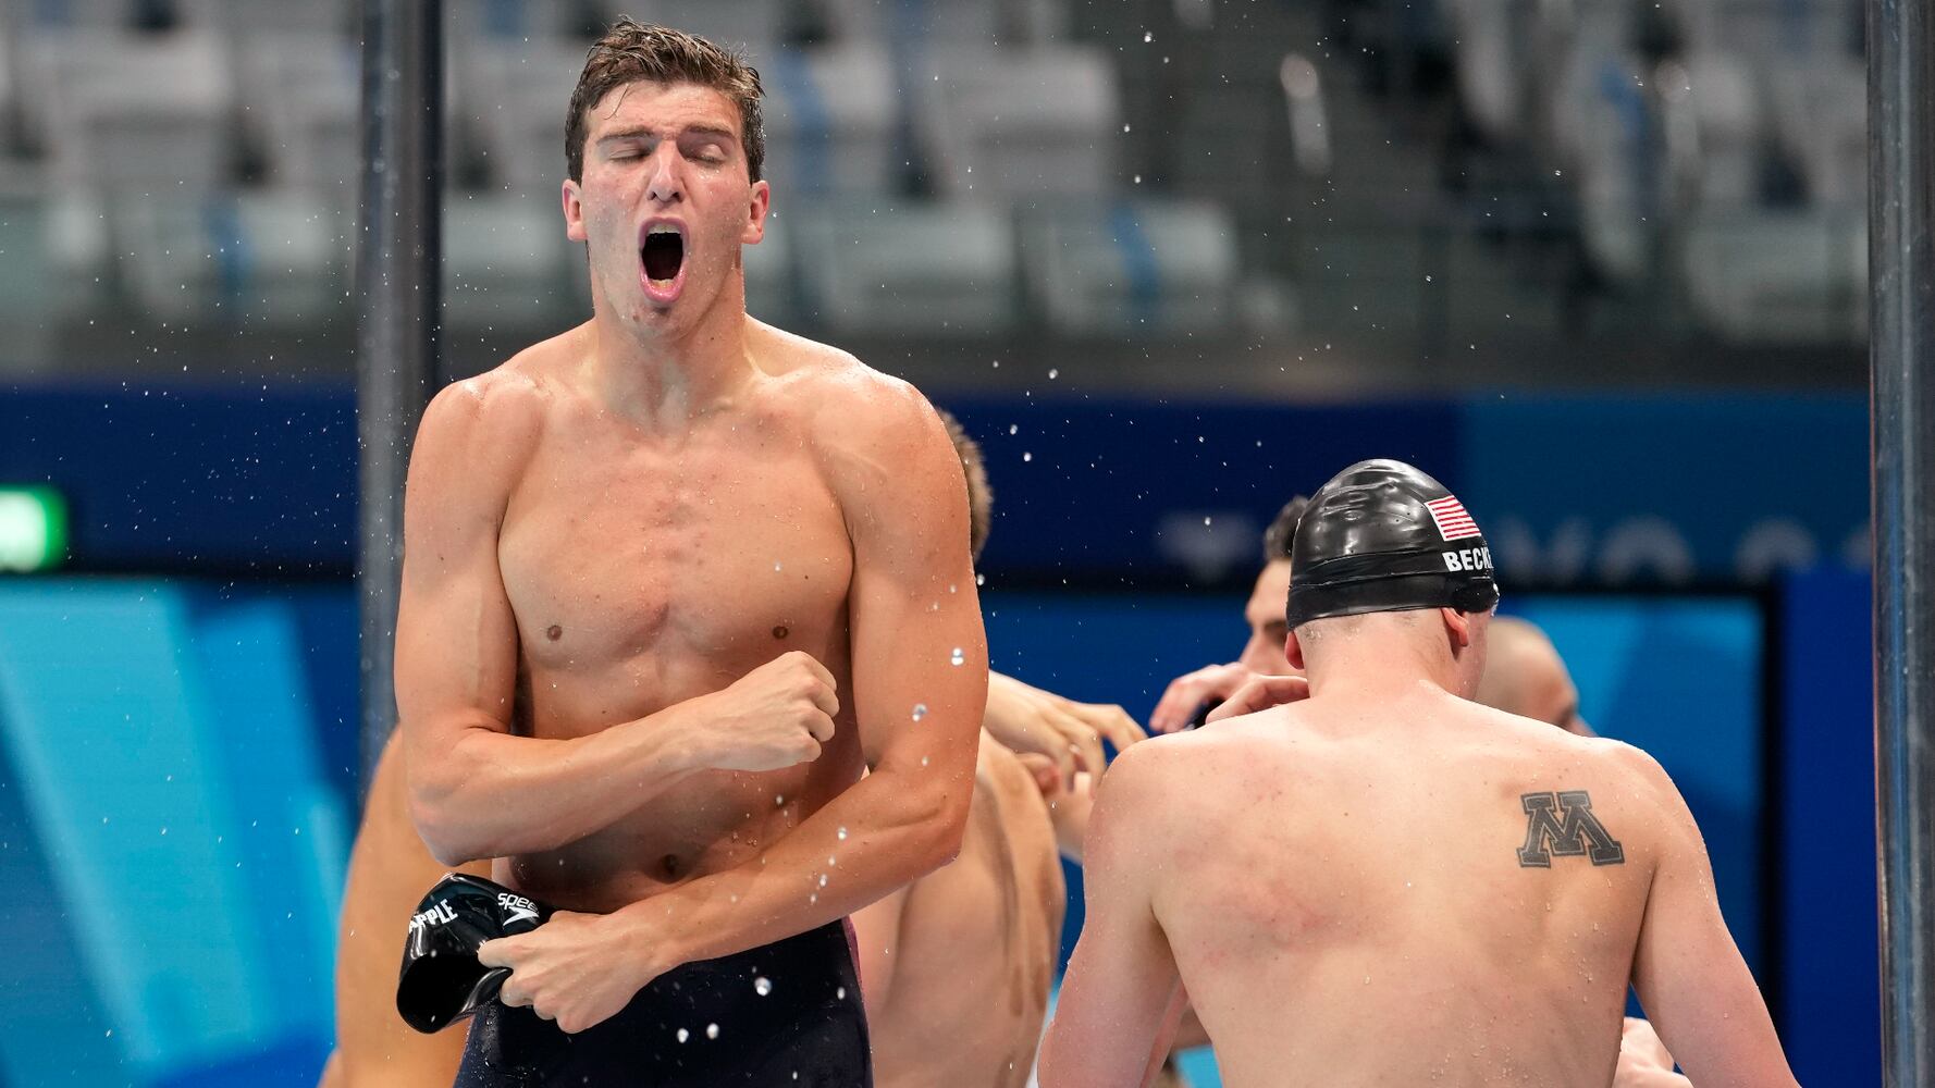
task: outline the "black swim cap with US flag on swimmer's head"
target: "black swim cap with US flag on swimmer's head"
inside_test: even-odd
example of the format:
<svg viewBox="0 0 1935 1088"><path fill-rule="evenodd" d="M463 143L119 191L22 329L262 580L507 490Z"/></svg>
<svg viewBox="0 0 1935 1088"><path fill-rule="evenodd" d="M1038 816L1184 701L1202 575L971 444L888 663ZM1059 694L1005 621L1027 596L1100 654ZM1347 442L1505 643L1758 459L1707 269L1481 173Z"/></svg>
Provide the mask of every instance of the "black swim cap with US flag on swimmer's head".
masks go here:
<svg viewBox="0 0 1935 1088"><path fill-rule="evenodd" d="M1291 542L1298 627L1329 616L1498 604L1492 548L1444 484L1403 461L1358 461L1331 476Z"/></svg>

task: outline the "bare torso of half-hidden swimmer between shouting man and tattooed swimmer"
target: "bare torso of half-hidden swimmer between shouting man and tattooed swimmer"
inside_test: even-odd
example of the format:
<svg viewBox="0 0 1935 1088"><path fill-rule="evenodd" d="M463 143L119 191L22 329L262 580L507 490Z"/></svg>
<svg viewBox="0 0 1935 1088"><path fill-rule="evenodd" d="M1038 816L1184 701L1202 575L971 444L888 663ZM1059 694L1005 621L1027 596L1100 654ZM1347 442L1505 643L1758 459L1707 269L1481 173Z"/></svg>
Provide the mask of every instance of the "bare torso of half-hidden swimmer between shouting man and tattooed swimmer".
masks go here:
<svg viewBox="0 0 1935 1088"><path fill-rule="evenodd" d="M1027 1084L1064 896L1041 788L981 734L962 852L908 892L890 999L869 1022L880 1088Z"/></svg>

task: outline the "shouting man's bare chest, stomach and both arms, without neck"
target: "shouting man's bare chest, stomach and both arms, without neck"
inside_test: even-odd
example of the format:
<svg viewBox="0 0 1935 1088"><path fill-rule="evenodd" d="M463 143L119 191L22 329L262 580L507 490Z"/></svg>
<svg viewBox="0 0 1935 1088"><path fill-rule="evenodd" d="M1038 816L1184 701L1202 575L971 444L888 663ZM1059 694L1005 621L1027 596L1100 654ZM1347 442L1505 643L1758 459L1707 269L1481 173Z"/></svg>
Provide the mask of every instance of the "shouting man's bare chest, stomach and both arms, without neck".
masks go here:
<svg viewBox="0 0 1935 1088"><path fill-rule="evenodd" d="M745 345L729 395L654 420L582 325L439 393L412 453L412 815L567 912L664 902L613 914L640 985L927 871L971 784L987 658L946 432L842 352L751 319Z"/></svg>

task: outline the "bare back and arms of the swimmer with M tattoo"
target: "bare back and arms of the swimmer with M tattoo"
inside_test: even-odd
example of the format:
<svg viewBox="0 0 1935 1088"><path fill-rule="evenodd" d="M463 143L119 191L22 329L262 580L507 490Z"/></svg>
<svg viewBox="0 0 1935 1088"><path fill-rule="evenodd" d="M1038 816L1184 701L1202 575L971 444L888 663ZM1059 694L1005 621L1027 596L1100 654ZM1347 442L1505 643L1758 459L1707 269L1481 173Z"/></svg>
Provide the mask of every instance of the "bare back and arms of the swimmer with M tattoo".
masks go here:
<svg viewBox="0 0 1935 1088"><path fill-rule="evenodd" d="M1627 982L1695 1084L1794 1082L1658 765L1438 687L1136 745L1087 887L1043 1088L1136 1082L1178 982L1238 1088L1604 1088Z"/></svg>

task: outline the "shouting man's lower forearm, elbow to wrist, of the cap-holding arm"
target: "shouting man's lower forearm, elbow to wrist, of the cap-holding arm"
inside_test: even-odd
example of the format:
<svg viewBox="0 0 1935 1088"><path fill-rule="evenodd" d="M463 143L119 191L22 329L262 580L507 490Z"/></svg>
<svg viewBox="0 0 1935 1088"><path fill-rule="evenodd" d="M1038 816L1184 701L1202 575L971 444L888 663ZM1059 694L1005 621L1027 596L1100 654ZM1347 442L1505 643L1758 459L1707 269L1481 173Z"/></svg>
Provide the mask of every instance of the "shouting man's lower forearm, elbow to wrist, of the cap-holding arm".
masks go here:
<svg viewBox="0 0 1935 1088"><path fill-rule="evenodd" d="M627 947L656 976L838 922L952 861L971 769L946 792L906 778L869 774L757 858L617 912Z"/></svg>

